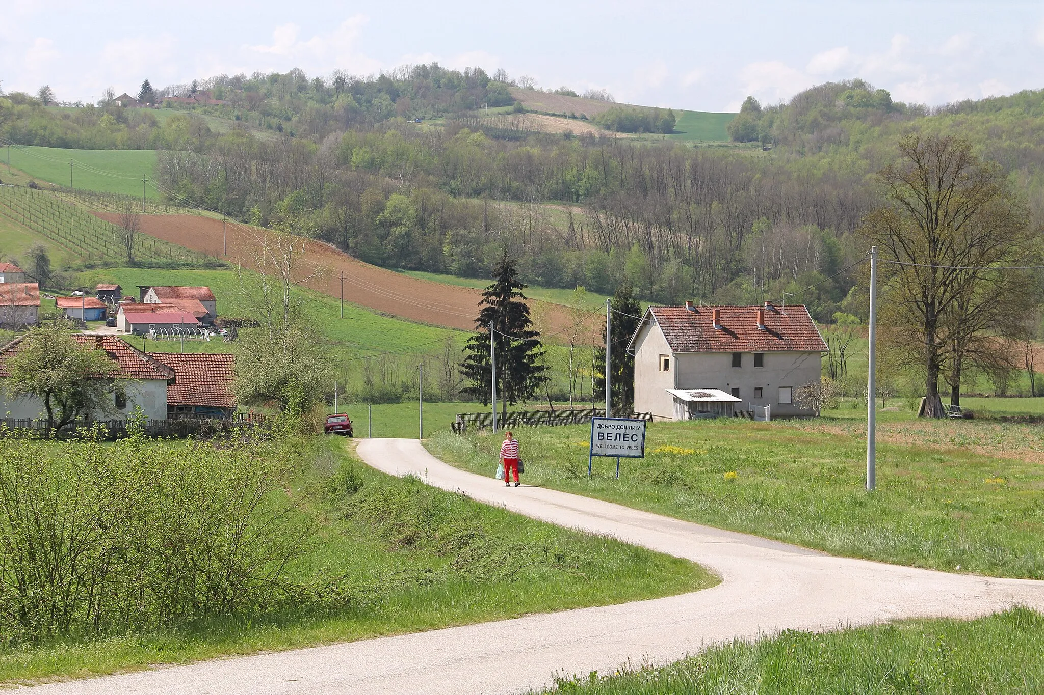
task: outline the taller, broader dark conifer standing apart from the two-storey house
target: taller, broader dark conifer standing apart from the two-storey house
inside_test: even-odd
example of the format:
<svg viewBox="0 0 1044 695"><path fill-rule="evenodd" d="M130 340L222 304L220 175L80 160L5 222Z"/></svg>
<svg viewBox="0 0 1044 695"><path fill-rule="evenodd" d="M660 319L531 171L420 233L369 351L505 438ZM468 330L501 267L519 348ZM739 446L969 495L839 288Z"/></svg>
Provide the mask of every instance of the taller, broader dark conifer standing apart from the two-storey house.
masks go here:
<svg viewBox="0 0 1044 695"><path fill-rule="evenodd" d="M482 306L475 319L480 332L468 339L467 355L460 364L460 374L471 386L465 389L482 402L490 402L490 323L496 338L494 349L497 357L497 394L501 397L503 412L507 405L532 396L547 381L547 365L543 359L544 346L540 332L533 330L529 305L525 303L519 280L518 267L506 252L493 271L494 283L482 293Z"/></svg>

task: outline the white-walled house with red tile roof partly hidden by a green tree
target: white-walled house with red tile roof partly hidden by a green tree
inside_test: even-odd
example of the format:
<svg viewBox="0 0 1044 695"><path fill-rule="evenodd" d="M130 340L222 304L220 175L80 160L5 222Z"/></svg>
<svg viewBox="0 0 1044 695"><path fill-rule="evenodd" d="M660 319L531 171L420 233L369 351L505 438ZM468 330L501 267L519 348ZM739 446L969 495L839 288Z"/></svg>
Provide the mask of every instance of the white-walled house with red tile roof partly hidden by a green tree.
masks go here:
<svg viewBox="0 0 1044 695"><path fill-rule="evenodd" d="M149 420L167 418L167 386L174 380L174 370L135 349L116 336L74 334L74 341L85 347L104 350L113 361L113 370L99 374L98 378L125 379L125 398L115 397L114 407L120 418L125 418L136 406L141 407ZM3 379L10 376L6 371L6 361L17 354L24 338L11 341L0 348L0 413L16 420L45 418L43 402L35 398L10 399L4 394ZM99 416L104 417L104 416Z"/></svg>

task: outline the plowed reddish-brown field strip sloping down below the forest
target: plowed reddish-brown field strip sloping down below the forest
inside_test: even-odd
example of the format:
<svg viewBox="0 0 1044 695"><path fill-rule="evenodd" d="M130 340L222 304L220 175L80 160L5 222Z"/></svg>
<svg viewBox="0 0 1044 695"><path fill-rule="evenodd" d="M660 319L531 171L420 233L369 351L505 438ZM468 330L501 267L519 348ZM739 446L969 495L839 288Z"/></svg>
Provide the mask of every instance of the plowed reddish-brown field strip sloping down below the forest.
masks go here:
<svg viewBox="0 0 1044 695"><path fill-rule="evenodd" d="M94 213L98 217L118 223L116 213ZM194 251L203 251L224 258L244 268L257 266L260 240L271 240L275 234L260 227L228 225L229 254L223 256L223 223L199 215L143 215L141 230ZM305 275L322 269L319 277L305 286L329 295L340 297L340 277L345 277L345 301L365 306L382 314L389 314L410 321L428 323L461 330L475 328L481 292L442 282L432 282L409 275L362 263L347 253L322 242L302 240L305 252L302 265ZM533 314L541 317L539 326L545 333L567 328L572 321L568 309L560 304L530 300ZM595 324L588 321L587 324Z"/></svg>

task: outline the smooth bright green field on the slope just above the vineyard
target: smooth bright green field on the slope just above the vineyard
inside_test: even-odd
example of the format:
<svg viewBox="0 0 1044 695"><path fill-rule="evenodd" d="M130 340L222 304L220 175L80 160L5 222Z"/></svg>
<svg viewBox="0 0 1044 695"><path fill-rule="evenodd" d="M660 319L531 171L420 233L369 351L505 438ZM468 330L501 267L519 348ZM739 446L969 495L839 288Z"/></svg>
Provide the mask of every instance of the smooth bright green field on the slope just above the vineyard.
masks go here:
<svg viewBox="0 0 1044 695"><path fill-rule="evenodd" d="M6 149L6 148L4 148ZM42 181L69 185L69 160L73 160L72 187L104 193L141 196L141 177L152 178L153 150L72 150L57 147L10 148L10 166ZM4 165L6 165L6 154ZM145 195L159 198L151 185Z"/></svg>

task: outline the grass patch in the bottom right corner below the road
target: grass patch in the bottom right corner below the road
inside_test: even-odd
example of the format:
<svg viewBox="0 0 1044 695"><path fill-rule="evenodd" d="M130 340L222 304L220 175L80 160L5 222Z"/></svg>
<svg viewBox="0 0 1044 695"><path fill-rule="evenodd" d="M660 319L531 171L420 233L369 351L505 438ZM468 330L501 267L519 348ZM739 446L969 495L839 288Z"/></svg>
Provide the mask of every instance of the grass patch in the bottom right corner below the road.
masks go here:
<svg viewBox="0 0 1044 695"><path fill-rule="evenodd" d="M837 632L785 630L735 641L665 667L562 674L559 693L1044 692L1044 616L1016 607L978 620L907 620Z"/></svg>

